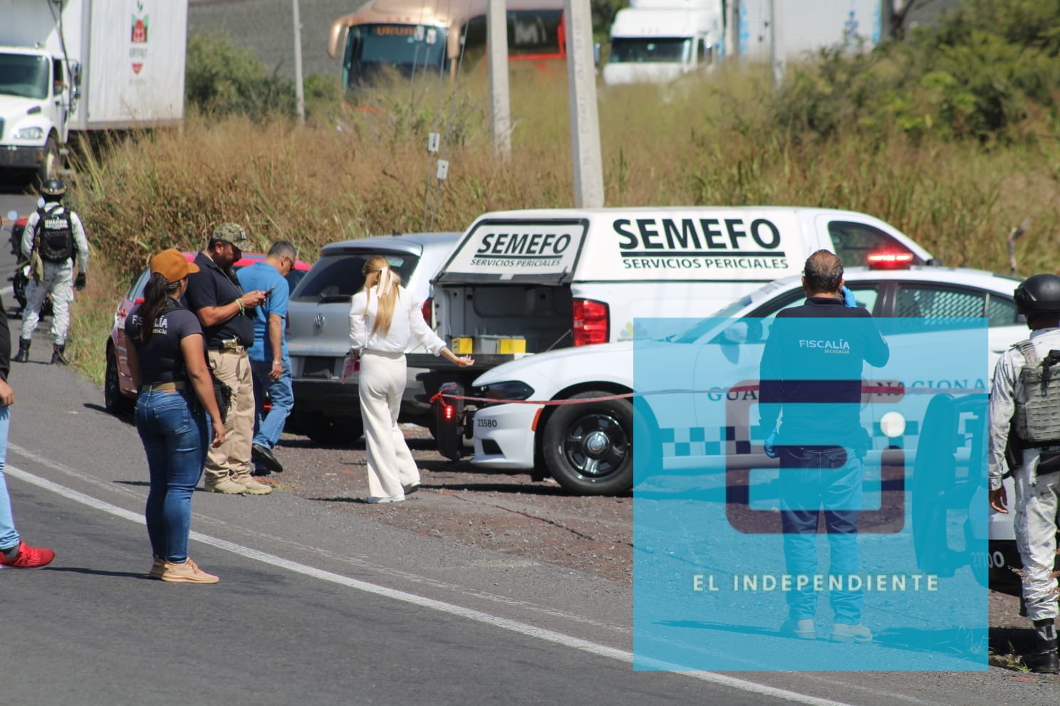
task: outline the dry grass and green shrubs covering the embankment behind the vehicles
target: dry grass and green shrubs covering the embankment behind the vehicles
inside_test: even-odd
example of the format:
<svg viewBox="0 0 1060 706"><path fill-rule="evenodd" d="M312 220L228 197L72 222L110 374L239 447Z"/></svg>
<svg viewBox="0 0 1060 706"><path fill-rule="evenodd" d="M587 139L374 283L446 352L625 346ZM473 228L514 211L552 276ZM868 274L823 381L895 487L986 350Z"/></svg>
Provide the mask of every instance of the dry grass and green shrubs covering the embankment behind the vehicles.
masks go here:
<svg viewBox="0 0 1060 706"><path fill-rule="evenodd" d="M1047 5L1047 6L1046 6ZM1056 271L1060 225L1060 5L969 0L904 42L823 52L775 91L760 67L668 87L600 89L610 205L802 204L863 211L947 265L1007 271L1024 218L1022 273ZM513 153L494 157L487 71L440 93L437 78L341 96L290 87L218 38L194 38L181 130L104 145L82 159L75 205L95 260L71 348L99 378L109 312L149 254L199 249L212 225L245 223L312 260L325 242L462 230L495 209L572 203L566 68L512 66ZM445 135L437 188L427 134ZM100 273L103 273L102 276ZM707 312L704 312L707 313Z"/></svg>

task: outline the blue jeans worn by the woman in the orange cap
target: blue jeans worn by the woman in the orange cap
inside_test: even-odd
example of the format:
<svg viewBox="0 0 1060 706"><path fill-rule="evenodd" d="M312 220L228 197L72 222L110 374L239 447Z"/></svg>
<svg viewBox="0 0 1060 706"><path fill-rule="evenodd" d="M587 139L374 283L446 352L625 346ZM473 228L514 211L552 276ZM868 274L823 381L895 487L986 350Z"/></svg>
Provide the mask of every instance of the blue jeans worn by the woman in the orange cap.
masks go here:
<svg viewBox="0 0 1060 706"><path fill-rule="evenodd" d="M189 402L194 394L145 392L136 403L136 429L151 471L147 537L155 556L175 563L188 558L192 492L210 445L210 420Z"/></svg>

